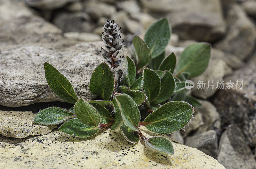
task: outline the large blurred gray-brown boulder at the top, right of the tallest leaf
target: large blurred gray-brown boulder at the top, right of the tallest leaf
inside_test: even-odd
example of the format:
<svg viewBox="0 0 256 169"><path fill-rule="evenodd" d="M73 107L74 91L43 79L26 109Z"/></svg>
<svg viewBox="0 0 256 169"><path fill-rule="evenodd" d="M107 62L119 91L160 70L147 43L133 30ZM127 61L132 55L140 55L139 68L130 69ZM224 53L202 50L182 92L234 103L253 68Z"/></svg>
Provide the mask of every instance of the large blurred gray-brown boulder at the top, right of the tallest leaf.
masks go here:
<svg viewBox="0 0 256 169"><path fill-rule="evenodd" d="M169 13L172 30L181 39L212 42L226 32L220 0L141 0L149 12Z"/></svg>

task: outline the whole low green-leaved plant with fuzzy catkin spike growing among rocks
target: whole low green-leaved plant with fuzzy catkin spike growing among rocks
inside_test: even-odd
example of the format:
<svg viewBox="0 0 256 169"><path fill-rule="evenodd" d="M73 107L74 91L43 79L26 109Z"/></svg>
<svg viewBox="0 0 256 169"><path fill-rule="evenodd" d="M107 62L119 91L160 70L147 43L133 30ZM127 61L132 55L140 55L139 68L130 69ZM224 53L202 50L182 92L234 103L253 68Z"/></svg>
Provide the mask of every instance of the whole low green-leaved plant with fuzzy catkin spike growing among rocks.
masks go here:
<svg viewBox="0 0 256 169"><path fill-rule="evenodd" d="M107 63L96 67L89 86L90 91L103 100L78 98L68 79L45 62L45 78L52 91L75 105L69 110L43 109L37 113L34 122L44 125L62 123L58 130L77 137L90 137L100 129L120 127L127 141L137 143L141 138L149 147L173 154L168 138L148 139L139 127L143 125L155 133L172 133L184 128L193 116L192 105L200 105L187 95L185 80L204 72L211 46L206 43L188 46L176 65L175 54L165 57L164 53L171 36L168 20L157 20L148 28L144 41L134 37L136 64L126 57L126 75L122 77L119 66L125 57L118 55L124 42L120 28L113 20L108 20L103 30L105 48L102 48L102 56Z"/></svg>

